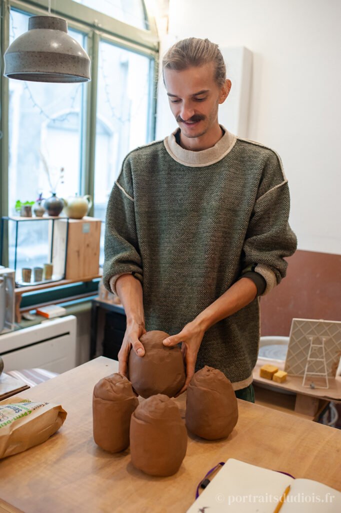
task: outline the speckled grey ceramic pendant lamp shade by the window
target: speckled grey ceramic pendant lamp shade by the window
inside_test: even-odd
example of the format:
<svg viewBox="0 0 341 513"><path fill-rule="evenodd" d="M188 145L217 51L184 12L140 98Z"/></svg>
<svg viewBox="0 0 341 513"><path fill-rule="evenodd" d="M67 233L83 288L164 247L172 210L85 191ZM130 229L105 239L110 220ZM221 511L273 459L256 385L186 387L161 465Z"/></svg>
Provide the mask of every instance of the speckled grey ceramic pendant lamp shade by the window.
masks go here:
<svg viewBox="0 0 341 513"><path fill-rule="evenodd" d="M32 82L88 82L90 58L68 34L65 19L32 16L5 52L4 75Z"/></svg>

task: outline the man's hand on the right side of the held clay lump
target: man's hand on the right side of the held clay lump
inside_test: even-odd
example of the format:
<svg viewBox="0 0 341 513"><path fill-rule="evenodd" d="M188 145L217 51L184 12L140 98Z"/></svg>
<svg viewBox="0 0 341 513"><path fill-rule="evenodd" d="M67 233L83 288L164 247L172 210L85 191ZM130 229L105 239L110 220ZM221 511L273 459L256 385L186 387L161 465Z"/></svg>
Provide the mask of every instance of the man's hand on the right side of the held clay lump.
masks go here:
<svg viewBox="0 0 341 513"><path fill-rule="evenodd" d="M168 337L163 341L163 344L168 347L176 346L179 342L182 342L181 351L186 364L186 381L178 393L178 396L187 389L193 377L197 354L204 334L205 330L201 324L197 320L194 320L186 324L180 333L172 335L172 337Z"/></svg>

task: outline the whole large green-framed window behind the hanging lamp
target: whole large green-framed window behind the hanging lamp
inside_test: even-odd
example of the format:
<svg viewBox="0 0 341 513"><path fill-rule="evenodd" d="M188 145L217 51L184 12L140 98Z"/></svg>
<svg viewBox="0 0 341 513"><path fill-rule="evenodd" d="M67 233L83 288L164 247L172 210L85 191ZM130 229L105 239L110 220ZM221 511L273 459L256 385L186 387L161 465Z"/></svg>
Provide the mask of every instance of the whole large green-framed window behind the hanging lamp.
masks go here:
<svg viewBox="0 0 341 513"><path fill-rule="evenodd" d="M5 49L27 31L29 16L48 14L45 0L8 5L0 6ZM52 3L52 15L67 19L69 34L88 52L92 81L48 84L1 74L1 215L14 215L17 200L53 191L62 198L90 194L90 215L104 222L125 154L154 138L156 29L142 0L63 0ZM3 265L12 260L14 225L8 223ZM48 223L24 225L18 264L40 265L48 260ZM103 235L104 226L101 245Z"/></svg>

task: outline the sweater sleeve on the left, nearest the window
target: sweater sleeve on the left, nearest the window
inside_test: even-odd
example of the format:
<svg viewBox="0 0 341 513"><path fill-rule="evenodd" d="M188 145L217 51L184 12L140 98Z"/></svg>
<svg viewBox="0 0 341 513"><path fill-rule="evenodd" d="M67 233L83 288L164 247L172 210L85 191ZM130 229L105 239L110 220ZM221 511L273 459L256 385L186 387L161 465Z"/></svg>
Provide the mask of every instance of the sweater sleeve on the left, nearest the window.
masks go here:
<svg viewBox="0 0 341 513"><path fill-rule="evenodd" d="M131 273L143 283L142 260L136 232L134 190L130 163L123 162L106 209L103 284L115 291L120 275Z"/></svg>

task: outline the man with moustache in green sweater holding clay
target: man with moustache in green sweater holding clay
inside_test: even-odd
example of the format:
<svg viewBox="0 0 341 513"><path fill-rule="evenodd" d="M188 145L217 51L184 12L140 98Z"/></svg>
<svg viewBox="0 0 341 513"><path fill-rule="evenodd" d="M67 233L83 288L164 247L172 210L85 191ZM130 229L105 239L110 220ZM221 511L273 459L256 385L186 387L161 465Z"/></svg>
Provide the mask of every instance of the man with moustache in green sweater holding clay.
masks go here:
<svg viewBox="0 0 341 513"><path fill-rule="evenodd" d="M129 153L108 203L103 282L117 291L127 327L126 375L145 331L182 343L186 382L195 369L223 371L237 397L254 401L258 297L286 273L296 248L279 156L218 123L230 91L218 45L189 38L163 59L179 128Z"/></svg>

